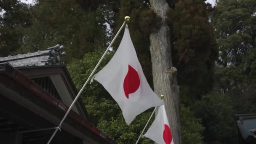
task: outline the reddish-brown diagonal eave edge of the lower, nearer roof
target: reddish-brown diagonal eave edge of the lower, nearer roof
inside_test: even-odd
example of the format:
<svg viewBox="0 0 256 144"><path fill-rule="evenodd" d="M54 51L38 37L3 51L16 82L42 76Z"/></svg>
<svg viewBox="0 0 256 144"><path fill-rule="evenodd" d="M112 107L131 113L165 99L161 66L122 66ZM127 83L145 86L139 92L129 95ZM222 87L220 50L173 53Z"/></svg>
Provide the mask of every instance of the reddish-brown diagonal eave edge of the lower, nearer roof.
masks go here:
<svg viewBox="0 0 256 144"><path fill-rule="evenodd" d="M62 113L67 112L68 107L65 104L63 104L60 100L56 99L50 93L45 91L43 88L41 88L35 82L33 82L31 79L26 77L19 70L12 67L11 64L9 64L8 62L0 63L0 73L6 75L8 77L11 77L13 80L20 83L24 87L26 87L29 91L36 94L43 101L47 101L48 104L50 104L53 107L56 107L56 109L58 109L60 112L62 112ZM106 143L116 144L115 141L110 139L106 134L102 133L98 128L96 128L90 122L88 122L83 117L78 115L76 112L71 110L68 117L70 117L72 120L74 120L75 122L82 125L84 128L93 132L96 136L99 136L99 138L103 139Z"/></svg>

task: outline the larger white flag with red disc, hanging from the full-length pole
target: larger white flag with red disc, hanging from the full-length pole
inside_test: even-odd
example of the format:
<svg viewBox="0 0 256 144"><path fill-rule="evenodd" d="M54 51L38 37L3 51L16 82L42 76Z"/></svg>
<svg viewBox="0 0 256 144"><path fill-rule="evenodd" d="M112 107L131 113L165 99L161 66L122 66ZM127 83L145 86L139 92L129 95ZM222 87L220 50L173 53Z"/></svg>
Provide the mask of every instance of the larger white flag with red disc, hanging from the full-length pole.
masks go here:
<svg viewBox="0 0 256 144"><path fill-rule="evenodd" d="M117 101L128 125L141 112L164 104L147 83L127 25L115 55L93 79Z"/></svg>

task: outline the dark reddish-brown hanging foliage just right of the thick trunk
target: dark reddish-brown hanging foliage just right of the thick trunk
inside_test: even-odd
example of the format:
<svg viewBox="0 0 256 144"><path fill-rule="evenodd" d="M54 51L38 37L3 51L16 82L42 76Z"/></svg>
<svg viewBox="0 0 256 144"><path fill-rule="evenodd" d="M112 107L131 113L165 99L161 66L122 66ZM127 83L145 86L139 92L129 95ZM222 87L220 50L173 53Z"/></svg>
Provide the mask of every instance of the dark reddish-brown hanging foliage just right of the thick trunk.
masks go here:
<svg viewBox="0 0 256 144"><path fill-rule="evenodd" d="M168 11L173 64L178 69L181 100L190 104L213 87L218 48L203 0L176 0Z"/></svg>

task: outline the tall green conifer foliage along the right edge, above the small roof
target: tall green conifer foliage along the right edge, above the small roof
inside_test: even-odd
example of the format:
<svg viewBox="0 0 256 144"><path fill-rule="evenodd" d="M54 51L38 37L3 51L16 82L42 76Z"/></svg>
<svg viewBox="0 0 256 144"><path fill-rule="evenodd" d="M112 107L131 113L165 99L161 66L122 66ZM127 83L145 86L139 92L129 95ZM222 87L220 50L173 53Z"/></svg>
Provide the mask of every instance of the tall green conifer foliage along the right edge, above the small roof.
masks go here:
<svg viewBox="0 0 256 144"><path fill-rule="evenodd" d="M256 1L219 0L211 15L219 43L216 87L236 114L255 112Z"/></svg>

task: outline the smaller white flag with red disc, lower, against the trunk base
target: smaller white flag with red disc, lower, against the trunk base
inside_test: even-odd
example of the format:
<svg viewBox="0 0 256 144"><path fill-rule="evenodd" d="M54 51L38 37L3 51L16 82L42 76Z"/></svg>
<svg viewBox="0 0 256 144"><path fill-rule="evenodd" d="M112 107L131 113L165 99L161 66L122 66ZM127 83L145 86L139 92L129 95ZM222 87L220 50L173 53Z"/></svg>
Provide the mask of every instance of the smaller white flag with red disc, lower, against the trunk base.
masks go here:
<svg viewBox="0 0 256 144"><path fill-rule="evenodd" d="M164 105L159 107L154 122L144 136L157 144L174 144Z"/></svg>

